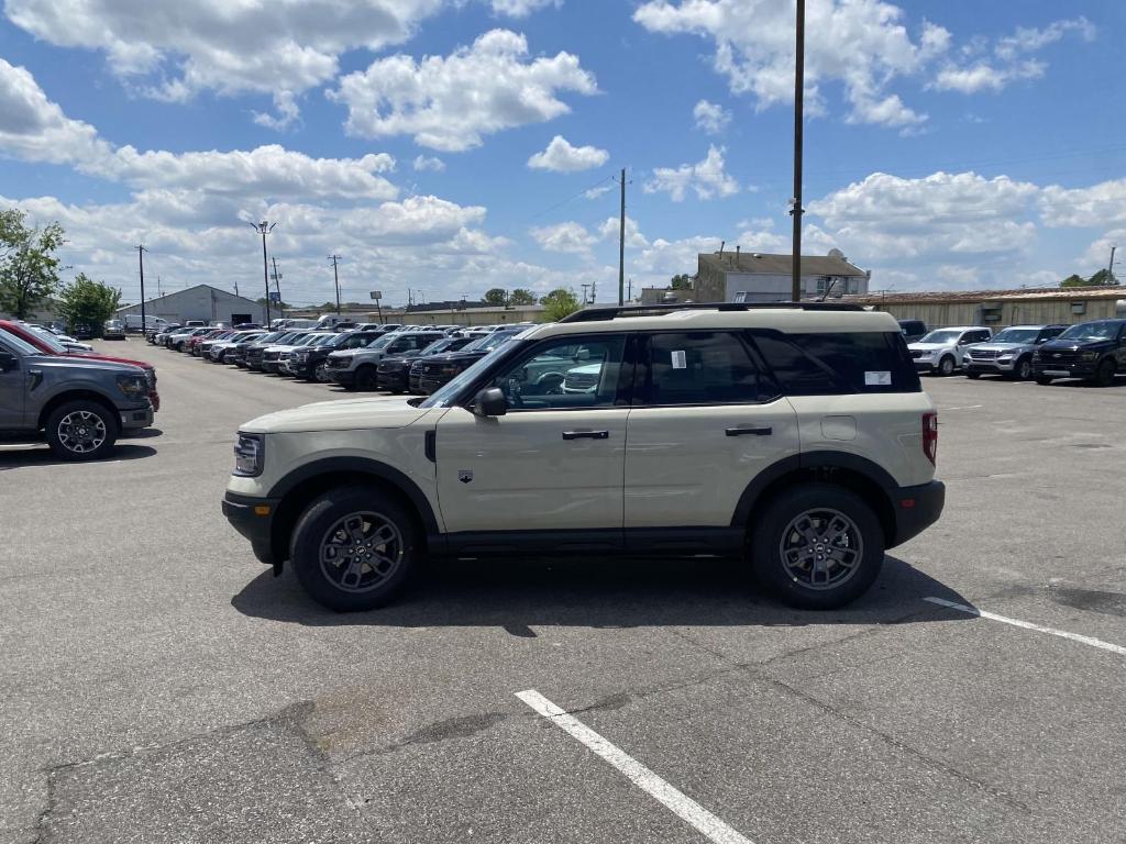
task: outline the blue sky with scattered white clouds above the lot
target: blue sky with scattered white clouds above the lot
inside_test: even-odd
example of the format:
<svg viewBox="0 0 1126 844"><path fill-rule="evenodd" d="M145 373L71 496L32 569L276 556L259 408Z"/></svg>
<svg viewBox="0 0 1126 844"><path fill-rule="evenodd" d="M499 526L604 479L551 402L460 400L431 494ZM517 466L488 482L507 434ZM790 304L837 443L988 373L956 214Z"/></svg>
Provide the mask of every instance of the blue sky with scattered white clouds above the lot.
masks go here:
<svg viewBox="0 0 1126 844"><path fill-rule="evenodd" d="M786 0L6 0L0 206L138 295L287 300L692 272L787 251ZM1037 286L1126 246L1119 2L808 0L806 253L873 288ZM556 140L557 138L557 140ZM589 191L589 192L588 192Z"/></svg>

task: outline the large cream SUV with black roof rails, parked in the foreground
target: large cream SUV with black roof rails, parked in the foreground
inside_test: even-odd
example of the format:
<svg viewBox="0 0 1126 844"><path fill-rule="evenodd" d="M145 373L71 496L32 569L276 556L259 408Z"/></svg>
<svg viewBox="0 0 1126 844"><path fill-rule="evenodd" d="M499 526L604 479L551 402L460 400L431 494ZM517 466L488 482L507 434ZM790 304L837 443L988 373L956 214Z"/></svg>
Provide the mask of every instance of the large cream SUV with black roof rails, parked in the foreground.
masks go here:
<svg viewBox="0 0 1126 844"><path fill-rule="evenodd" d="M938 519L937 434L888 314L588 308L425 399L248 422L223 512L333 610L385 603L426 556L623 553L745 556L826 609Z"/></svg>

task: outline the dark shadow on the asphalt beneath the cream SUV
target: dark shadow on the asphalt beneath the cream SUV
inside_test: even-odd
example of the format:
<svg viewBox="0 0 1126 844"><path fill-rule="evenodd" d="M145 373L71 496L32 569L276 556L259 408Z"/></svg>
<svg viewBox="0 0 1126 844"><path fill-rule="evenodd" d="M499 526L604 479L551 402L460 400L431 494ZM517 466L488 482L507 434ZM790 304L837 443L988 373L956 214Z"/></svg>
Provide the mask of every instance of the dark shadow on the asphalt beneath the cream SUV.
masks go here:
<svg viewBox="0 0 1126 844"><path fill-rule="evenodd" d="M491 560L434 563L397 601L363 613L314 603L292 572L267 569L231 604L245 616L312 627L501 627L534 637L533 626L629 628L899 625L972 618L923 601L968 604L897 557L886 557L875 585L840 610L795 610L770 598L730 560Z"/></svg>

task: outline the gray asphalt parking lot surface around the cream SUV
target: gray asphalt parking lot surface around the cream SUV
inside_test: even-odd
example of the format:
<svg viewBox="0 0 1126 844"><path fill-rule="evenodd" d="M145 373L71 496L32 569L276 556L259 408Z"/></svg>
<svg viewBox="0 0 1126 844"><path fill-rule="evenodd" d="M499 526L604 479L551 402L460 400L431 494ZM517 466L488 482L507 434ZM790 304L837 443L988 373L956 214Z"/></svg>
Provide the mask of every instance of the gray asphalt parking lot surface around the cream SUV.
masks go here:
<svg viewBox="0 0 1126 844"><path fill-rule="evenodd" d="M0 446L0 842L1126 841L1126 379L927 378L946 513L844 611L582 558L341 617L220 513L340 393L106 345L151 436Z"/></svg>

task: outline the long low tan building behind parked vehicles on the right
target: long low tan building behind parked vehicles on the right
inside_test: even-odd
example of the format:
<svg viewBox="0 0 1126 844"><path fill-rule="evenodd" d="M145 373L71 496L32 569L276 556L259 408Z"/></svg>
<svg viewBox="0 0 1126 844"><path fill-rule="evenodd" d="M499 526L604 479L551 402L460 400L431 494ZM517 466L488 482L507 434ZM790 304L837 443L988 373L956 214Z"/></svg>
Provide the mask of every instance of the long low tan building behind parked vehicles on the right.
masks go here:
<svg viewBox="0 0 1126 844"><path fill-rule="evenodd" d="M1071 325L1126 317L1121 287L1044 287L1017 290L888 293L848 296L846 302L886 311L896 320L922 320L930 329L947 325Z"/></svg>

